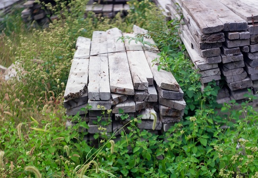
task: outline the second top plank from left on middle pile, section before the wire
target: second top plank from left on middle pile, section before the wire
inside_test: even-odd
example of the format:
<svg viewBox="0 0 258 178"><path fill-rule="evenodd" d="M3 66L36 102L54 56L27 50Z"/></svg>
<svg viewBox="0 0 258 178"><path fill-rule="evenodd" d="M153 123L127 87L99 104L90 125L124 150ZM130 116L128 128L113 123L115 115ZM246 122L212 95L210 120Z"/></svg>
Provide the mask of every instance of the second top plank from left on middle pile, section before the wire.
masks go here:
<svg viewBox="0 0 258 178"><path fill-rule="evenodd" d="M107 56L90 57L88 96L90 100L109 100L111 97Z"/></svg>

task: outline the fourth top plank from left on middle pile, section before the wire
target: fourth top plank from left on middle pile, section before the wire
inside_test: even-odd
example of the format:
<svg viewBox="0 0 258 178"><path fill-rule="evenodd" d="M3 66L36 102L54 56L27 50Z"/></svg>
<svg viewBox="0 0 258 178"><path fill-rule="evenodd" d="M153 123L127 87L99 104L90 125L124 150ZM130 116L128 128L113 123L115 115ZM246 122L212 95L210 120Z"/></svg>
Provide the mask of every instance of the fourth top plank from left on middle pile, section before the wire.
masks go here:
<svg viewBox="0 0 258 178"><path fill-rule="evenodd" d="M146 90L149 82L153 84L153 75L143 51L127 51L133 88Z"/></svg>

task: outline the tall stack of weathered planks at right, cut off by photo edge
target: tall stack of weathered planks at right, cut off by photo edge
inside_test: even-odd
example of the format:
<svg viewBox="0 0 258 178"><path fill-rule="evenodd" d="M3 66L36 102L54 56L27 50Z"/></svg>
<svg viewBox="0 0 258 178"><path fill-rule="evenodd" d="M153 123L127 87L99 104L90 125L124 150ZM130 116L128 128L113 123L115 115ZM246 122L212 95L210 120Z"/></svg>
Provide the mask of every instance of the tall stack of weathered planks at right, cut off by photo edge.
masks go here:
<svg viewBox="0 0 258 178"><path fill-rule="evenodd" d="M160 0L157 0L160 1ZM243 101L258 89L258 3L253 0L163 0L183 17L181 39L203 86L223 86L218 103ZM252 89L253 92L248 92Z"/></svg>

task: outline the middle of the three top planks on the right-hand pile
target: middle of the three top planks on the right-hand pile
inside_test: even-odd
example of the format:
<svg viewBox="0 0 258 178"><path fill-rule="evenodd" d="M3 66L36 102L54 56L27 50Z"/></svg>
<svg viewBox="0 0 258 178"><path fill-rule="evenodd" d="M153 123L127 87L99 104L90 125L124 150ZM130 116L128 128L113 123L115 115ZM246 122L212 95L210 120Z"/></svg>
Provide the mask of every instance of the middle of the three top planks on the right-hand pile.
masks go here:
<svg viewBox="0 0 258 178"><path fill-rule="evenodd" d="M222 22L224 31L241 31L248 29L248 23L219 0L200 0L210 12Z"/></svg>

